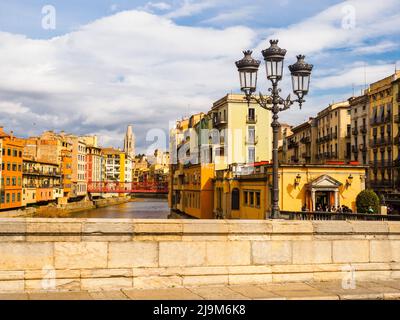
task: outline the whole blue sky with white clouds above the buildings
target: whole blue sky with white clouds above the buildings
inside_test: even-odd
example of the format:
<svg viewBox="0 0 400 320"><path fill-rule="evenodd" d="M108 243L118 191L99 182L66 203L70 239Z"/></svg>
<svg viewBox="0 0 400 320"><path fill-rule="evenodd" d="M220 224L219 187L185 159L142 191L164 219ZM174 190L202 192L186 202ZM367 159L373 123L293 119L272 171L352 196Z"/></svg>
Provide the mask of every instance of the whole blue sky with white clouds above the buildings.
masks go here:
<svg viewBox="0 0 400 320"><path fill-rule="evenodd" d="M234 62L244 49L260 58L271 38L288 50L287 65L299 53L315 65L304 108L282 114L299 124L392 74L396 62L400 68L399 4L1 1L0 124L23 137L43 130L97 134L102 145L118 147L131 123L139 151L146 151L171 121L237 92ZM266 92L265 80L259 89Z"/></svg>

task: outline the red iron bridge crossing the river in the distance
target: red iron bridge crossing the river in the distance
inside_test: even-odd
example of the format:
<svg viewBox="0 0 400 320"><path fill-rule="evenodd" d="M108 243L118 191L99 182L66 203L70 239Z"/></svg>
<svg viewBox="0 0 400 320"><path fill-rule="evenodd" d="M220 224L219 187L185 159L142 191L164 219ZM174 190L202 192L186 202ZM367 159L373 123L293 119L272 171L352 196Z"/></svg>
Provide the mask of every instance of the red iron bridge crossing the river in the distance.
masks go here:
<svg viewBox="0 0 400 320"><path fill-rule="evenodd" d="M89 193L168 193L168 182L88 182Z"/></svg>

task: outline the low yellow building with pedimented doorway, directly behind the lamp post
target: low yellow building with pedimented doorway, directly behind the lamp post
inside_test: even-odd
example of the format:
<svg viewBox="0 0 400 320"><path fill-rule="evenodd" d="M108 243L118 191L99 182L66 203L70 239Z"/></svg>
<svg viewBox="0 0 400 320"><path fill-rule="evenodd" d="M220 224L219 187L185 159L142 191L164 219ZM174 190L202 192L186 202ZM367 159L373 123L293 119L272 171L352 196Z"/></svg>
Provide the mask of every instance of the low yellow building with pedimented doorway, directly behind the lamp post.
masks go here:
<svg viewBox="0 0 400 320"><path fill-rule="evenodd" d="M347 206L365 189L366 167L358 165L281 165L279 206L282 212L316 211ZM214 212L227 219L265 219L271 207L271 165L217 171Z"/></svg>

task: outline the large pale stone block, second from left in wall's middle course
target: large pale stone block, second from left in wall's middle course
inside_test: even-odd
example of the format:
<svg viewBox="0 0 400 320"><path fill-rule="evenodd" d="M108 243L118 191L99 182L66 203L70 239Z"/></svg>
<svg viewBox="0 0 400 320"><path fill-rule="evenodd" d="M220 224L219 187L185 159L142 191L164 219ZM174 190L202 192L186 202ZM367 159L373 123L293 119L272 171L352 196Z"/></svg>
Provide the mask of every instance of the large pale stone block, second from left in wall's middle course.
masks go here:
<svg viewBox="0 0 400 320"><path fill-rule="evenodd" d="M55 242L56 269L88 269L107 267L106 242Z"/></svg>

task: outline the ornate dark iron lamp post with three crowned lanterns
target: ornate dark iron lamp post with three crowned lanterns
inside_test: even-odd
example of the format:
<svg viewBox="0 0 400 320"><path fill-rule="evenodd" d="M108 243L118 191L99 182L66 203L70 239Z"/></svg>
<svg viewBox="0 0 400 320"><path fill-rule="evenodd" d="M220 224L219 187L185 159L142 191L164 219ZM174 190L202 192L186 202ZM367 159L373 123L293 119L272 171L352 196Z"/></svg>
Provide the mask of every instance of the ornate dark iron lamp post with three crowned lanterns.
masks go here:
<svg viewBox="0 0 400 320"><path fill-rule="evenodd" d="M261 93L258 97L254 96L257 89L257 72L261 64L260 61L252 58L252 51L244 51L244 58L236 62L239 71L240 88L245 94L245 98L250 105L252 100L256 101L262 108L272 112L272 207L271 218L280 218L279 212L279 163L278 163L278 139L280 123L278 122L278 114L290 108L292 104L297 102L300 106L305 102L304 97L308 93L310 85L310 77L313 65L304 61L305 56L297 56L297 62L289 66L292 76L293 92L297 96L296 100L292 100L290 95L283 99L280 96L281 89L278 88L278 83L283 76L283 61L285 59L286 50L278 47L278 40L270 40L270 47L262 51L267 71L267 79L271 81L272 88L269 96L264 96Z"/></svg>

